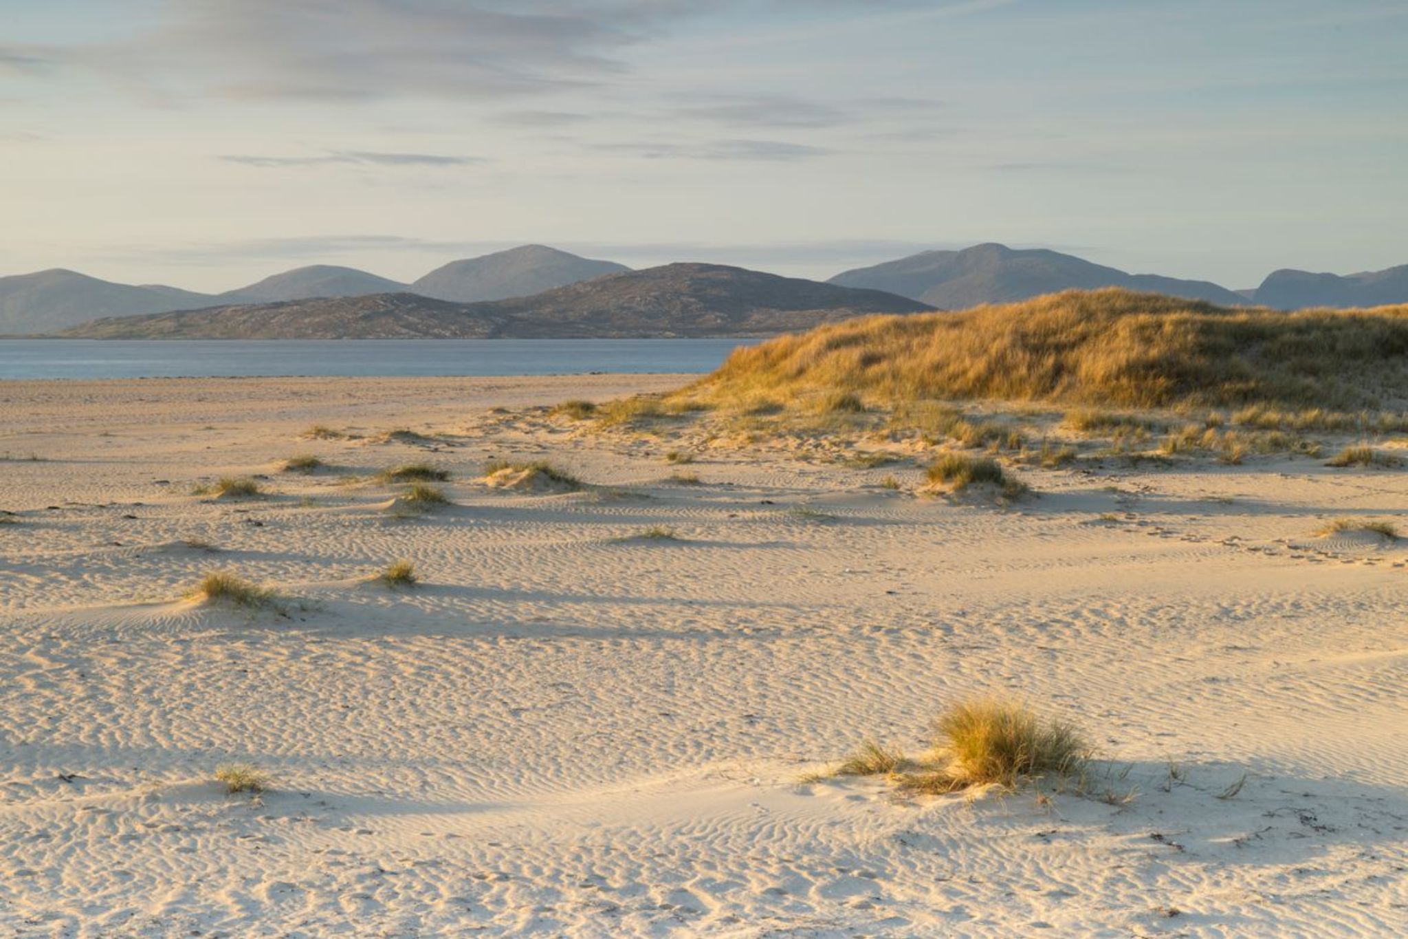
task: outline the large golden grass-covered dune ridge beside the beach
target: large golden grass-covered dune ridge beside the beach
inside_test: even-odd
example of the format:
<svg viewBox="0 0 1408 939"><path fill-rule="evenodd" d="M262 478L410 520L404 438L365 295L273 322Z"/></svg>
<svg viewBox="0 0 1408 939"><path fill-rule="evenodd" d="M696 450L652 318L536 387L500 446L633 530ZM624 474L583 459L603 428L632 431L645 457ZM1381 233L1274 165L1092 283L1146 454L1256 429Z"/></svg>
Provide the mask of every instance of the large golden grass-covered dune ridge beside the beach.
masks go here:
<svg viewBox="0 0 1408 939"><path fill-rule="evenodd" d="M855 393L1111 407L1400 410L1408 305L1233 310L1121 289L962 313L876 315L736 349L677 400Z"/></svg>

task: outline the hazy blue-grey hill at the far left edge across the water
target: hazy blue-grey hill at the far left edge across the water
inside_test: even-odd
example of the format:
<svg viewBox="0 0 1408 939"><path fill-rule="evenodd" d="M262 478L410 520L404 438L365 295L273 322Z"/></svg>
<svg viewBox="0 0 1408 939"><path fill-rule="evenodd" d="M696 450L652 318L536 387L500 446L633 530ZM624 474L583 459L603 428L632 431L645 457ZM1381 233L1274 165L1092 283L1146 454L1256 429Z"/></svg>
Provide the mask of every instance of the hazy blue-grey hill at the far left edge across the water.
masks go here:
<svg viewBox="0 0 1408 939"><path fill-rule="evenodd" d="M0 334L56 332L96 317L182 310L210 300L190 290L137 287L55 267L0 277Z"/></svg>

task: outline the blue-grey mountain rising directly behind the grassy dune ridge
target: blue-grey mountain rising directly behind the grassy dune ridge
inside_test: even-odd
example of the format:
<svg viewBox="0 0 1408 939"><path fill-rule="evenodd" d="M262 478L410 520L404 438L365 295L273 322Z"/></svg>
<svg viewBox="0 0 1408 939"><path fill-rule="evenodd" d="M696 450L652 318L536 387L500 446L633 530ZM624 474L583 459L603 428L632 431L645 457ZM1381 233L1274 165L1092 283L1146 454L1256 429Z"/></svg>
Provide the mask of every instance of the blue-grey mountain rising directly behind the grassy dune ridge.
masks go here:
<svg viewBox="0 0 1408 939"><path fill-rule="evenodd" d="M1129 275L1115 267L1045 249L974 245L963 251L925 251L873 267L839 273L829 283L887 290L941 310L1011 303L1060 290L1125 287L1171 297L1236 305L1246 300L1205 280Z"/></svg>

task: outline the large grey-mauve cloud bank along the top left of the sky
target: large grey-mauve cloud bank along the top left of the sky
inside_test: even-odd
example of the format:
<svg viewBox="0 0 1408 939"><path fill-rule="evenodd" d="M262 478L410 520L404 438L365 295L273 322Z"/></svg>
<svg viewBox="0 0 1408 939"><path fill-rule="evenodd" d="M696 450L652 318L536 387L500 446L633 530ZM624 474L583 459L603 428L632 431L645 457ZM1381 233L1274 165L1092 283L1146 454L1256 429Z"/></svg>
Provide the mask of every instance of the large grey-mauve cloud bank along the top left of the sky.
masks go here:
<svg viewBox="0 0 1408 939"><path fill-rule="evenodd" d="M187 0L131 38L0 45L0 66L89 69L155 99L493 99L621 70L684 4L650 0Z"/></svg>

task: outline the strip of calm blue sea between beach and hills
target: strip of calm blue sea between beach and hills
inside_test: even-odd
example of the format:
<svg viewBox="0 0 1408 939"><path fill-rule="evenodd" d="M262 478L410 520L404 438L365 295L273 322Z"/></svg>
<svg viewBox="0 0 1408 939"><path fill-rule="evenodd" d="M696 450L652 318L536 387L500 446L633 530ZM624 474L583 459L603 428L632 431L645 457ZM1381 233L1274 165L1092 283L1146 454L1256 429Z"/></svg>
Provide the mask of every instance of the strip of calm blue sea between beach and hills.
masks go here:
<svg viewBox="0 0 1408 939"><path fill-rule="evenodd" d="M0 339L0 379L712 372L753 339Z"/></svg>

